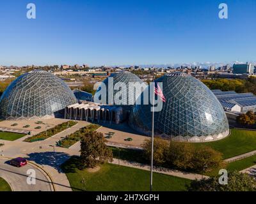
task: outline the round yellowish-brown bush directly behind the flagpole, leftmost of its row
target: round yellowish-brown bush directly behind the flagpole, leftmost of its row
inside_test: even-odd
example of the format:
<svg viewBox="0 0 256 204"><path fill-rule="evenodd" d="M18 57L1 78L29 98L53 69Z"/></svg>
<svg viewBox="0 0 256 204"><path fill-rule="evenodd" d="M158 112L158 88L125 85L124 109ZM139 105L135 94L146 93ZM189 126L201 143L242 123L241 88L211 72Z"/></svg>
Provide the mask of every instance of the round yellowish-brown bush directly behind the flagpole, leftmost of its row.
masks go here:
<svg viewBox="0 0 256 204"><path fill-rule="evenodd" d="M142 145L144 150L144 157L147 161L151 158L151 139L145 140ZM159 137L154 138L154 164L161 165L166 162L166 153L168 150L168 141Z"/></svg>

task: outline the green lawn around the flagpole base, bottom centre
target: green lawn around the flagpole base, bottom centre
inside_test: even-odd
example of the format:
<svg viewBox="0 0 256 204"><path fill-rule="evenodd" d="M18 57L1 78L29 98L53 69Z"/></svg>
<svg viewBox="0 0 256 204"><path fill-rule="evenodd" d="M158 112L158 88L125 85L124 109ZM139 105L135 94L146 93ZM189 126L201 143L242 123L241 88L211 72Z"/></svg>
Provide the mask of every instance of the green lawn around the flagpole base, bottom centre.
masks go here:
<svg viewBox="0 0 256 204"><path fill-rule="evenodd" d="M74 191L148 191L150 172L104 164L97 172L77 169L77 157L72 157L61 168ZM84 183L81 182L84 179ZM190 180L154 173L154 191L186 191Z"/></svg>

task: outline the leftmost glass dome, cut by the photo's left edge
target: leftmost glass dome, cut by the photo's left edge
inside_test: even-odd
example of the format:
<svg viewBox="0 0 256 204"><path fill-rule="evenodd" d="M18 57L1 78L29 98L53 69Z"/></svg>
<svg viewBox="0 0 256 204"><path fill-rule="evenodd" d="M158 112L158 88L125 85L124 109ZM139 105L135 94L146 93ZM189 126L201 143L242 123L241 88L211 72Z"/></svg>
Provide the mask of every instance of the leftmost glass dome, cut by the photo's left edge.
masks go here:
<svg viewBox="0 0 256 204"><path fill-rule="evenodd" d="M4 91L0 115L3 119L49 117L74 103L74 93L60 78L47 71L31 71L18 77Z"/></svg>

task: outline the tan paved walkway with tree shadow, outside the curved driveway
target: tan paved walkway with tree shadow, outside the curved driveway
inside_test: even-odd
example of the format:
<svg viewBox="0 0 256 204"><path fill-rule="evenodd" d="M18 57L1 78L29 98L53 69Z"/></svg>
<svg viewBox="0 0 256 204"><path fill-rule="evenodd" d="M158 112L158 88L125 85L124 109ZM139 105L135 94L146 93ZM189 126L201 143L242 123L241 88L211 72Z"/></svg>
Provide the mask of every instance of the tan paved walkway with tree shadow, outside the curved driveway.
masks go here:
<svg viewBox="0 0 256 204"><path fill-rule="evenodd" d="M74 152L75 154L79 154L79 150L72 152L72 150L61 147L55 147L53 149L52 145L55 145L61 138L76 132L78 129L88 124L89 123L85 121L78 121L78 124L72 126L72 128L68 128L40 142L23 142L24 138L13 142L0 140L0 143L4 143L4 146L1 147L3 152L0 151L0 156L3 154L4 157L25 157L28 161L38 164L51 175L56 191L72 191L67 176L60 169L60 164L67 161L70 156L74 155Z"/></svg>

